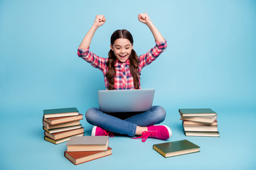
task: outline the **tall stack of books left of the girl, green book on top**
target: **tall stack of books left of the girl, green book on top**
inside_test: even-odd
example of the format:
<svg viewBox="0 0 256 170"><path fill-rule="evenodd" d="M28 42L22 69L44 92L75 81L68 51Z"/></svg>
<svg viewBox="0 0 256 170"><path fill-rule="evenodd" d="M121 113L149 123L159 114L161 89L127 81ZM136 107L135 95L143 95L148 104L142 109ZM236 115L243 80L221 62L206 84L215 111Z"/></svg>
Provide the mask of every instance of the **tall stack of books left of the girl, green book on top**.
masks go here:
<svg viewBox="0 0 256 170"><path fill-rule="evenodd" d="M84 128L80 120L82 114L77 108L43 110L44 140L59 144L70 140L72 136L83 136Z"/></svg>

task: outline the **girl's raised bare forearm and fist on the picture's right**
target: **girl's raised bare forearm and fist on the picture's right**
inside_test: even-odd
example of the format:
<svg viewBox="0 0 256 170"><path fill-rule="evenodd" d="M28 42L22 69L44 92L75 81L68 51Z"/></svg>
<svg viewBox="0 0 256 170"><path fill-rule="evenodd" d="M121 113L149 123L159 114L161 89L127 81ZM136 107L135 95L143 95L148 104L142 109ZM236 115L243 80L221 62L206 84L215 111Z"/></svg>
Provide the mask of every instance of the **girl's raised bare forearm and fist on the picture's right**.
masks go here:
<svg viewBox="0 0 256 170"><path fill-rule="evenodd" d="M154 26L154 24L151 22L151 19L149 18L147 13L140 13L138 18L140 22L146 24L146 26L149 27L149 29L151 30L151 33L154 35L154 39L157 42L165 41L163 35L161 35L159 30L156 28L156 26Z"/></svg>

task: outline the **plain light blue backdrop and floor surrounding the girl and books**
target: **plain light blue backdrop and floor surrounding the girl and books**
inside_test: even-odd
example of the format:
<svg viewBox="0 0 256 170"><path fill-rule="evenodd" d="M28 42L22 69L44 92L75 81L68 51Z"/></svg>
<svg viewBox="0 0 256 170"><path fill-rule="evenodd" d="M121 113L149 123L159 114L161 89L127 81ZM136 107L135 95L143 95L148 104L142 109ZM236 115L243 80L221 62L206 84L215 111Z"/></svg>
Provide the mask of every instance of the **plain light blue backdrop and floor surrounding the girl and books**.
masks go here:
<svg viewBox="0 0 256 170"><path fill-rule="evenodd" d="M112 156L74 166L65 143L43 140L43 109L97 107L102 72L77 56L97 14L107 21L92 39L101 57L110 36L127 29L134 50L154 46L137 19L148 13L168 42L142 70L142 88L154 88L154 105L166 109L168 141L190 140L201 152L165 159L152 145L113 137ZM256 169L256 1L14 1L0 2L0 169ZM220 137L186 137L178 108L212 108ZM92 125L82 120L85 135Z"/></svg>

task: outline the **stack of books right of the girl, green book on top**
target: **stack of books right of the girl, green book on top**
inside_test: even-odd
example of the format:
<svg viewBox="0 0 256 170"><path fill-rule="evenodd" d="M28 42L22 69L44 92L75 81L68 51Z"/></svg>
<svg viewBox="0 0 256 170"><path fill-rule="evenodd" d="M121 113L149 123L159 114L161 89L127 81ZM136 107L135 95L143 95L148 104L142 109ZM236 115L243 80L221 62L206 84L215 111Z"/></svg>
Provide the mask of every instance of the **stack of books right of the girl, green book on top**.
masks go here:
<svg viewBox="0 0 256 170"><path fill-rule="evenodd" d="M210 108L181 108L183 130L186 136L219 137L217 113Z"/></svg>

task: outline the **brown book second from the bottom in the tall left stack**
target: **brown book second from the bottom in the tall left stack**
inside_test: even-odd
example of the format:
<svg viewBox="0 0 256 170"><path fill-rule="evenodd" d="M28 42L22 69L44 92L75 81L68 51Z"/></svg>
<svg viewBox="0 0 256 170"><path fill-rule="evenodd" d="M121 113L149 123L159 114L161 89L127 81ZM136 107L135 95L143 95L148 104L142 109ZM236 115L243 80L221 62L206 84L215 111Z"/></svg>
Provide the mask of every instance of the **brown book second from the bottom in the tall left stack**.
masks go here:
<svg viewBox="0 0 256 170"><path fill-rule="evenodd" d="M75 129L75 130L68 130L68 131L64 131L64 132L56 132L56 133L52 133L52 134L45 131L45 135L47 137L50 137L53 140L60 140L64 137L70 137L70 136L73 136L73 135L78 135L78 134L83 133L83 132L84 132L84 128L79 128L79 129Z"/></svg>

